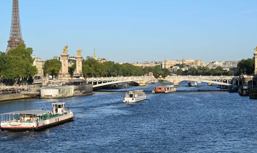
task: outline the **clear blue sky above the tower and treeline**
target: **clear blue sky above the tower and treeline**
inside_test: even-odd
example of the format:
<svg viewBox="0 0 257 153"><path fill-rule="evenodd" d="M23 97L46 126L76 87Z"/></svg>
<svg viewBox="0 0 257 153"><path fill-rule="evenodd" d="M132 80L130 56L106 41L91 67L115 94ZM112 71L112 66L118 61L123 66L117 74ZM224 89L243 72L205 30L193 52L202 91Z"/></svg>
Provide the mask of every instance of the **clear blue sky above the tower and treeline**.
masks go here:
<svg viewBox="0 0 257 153"><path fill-rule="evenodd" d="M23 39L34 55L69 55L115 62L252 57L257 45L257 1L20 0ZM9 39L12 1L0 0L0 51Z"/></svg>

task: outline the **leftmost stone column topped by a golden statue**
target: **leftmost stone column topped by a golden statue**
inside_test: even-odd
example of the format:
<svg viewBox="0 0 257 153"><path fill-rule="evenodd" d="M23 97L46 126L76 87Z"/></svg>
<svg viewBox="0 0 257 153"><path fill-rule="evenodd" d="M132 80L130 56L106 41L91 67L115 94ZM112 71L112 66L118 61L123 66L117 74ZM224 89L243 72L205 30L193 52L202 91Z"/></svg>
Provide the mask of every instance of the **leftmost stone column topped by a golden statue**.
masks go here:
<svg viewBox="0 0 257 153"><path fill-rule="evenodd" d="M61 70L58 74L59 79L70 79L70 74L68 72L68 58L69 55L67 54L67 48L68 46L65 46L63 48L63 52L61 54Z"/></svg>

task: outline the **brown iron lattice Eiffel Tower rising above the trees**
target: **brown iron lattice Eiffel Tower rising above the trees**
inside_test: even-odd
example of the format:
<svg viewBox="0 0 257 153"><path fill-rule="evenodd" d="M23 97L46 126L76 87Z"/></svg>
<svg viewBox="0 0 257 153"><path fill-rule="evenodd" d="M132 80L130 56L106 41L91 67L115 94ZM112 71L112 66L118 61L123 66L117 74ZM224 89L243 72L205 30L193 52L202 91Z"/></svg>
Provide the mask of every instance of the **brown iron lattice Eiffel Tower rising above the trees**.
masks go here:
<svg viewBox="0 0 257 153"><path fill-rule="evenodd" d="M6 53L9 49L17 47L20 43L24 43L20 28L20 13L18 0L13 0L11 31L9 40L7 42L8 45L6 48Z"/></svg>

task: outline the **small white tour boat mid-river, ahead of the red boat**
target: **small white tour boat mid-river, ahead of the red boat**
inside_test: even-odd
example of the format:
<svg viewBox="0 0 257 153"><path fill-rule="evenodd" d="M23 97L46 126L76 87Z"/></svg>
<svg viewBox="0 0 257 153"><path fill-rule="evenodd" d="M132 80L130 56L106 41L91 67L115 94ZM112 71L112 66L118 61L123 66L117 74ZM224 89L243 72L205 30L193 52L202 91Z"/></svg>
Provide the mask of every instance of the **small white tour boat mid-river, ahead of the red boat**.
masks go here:
<svg viewBox="0 0 257 153"><path fill-rule="evenodd" d="M146 99L146 95L143 90L128 91L123 97L124 103L134 103Z"/></svg>

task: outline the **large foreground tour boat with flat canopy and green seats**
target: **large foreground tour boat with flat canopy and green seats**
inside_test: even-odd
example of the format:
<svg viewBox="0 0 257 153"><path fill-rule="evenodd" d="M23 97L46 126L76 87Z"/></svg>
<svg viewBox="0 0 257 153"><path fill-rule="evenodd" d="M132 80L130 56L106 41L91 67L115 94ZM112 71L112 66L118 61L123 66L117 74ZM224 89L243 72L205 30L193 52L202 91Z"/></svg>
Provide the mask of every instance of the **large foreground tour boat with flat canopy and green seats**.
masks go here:
<svg viewBox="0 0 257 153"><path fill-rule="evenodd" d="M22 110L1 114L1 131L35 131L72 121L73 112L64 109L65 103L52 103L53 110Z"/></svg>

